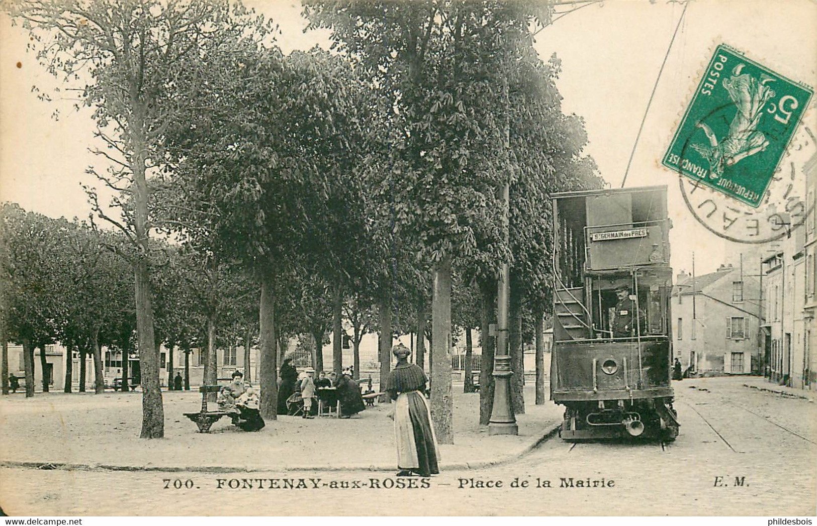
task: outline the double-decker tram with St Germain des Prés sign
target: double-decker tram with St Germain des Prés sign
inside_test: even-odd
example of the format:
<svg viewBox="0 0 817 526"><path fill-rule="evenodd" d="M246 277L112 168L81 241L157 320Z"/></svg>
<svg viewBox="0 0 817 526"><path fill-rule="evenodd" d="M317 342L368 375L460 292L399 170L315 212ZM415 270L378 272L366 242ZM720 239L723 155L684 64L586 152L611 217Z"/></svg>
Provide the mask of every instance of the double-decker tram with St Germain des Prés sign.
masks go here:
<svg viewBox="0 0 817 526"><path fill-rule="evenodd" d="M551 399L566 440L675 439L667 187L554 194Z"/></svg>

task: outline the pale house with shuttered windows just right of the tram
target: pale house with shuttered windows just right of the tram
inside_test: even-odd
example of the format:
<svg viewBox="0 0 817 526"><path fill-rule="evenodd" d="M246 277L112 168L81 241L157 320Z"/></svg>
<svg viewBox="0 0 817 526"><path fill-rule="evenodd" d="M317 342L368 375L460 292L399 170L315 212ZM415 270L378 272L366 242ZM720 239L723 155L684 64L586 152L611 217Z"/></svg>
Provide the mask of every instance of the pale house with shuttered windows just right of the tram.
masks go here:
<svg viewBox="0 0 817 526"><path fill-rule="evenodd" d="M750 374L761 368L760 283L751 272L678 274L672 292L675 357L690 375Z"/></svg>

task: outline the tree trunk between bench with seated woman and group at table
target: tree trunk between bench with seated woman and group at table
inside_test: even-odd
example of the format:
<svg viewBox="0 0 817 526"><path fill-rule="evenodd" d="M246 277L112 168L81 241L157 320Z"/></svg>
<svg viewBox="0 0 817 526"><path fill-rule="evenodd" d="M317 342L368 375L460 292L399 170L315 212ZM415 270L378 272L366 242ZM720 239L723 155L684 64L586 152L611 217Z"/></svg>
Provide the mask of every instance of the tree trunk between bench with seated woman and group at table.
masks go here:
<svg viewBox="0 0 817 526"><path fill-rule="evenodd" d="M261 417L278 419L278 337L275 334L273 274L261 270L261 301L258 308L258 385L261 388Z"/></svg>

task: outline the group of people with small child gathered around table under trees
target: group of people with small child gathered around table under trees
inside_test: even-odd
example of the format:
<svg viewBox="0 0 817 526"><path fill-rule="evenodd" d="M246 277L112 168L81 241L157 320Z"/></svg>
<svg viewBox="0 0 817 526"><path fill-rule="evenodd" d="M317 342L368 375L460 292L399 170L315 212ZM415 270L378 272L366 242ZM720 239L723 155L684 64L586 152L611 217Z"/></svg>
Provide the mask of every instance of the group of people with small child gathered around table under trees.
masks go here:
<svg viewBox="0 0 817 526"><path fill-rule="evenodd" d="M283 360L280 370L278 392L278 414L287 415L301 411L302 418L314 418L318 414L318 401L324 411L333 408L340 402L341 418L350 418L365 408L360 386L352 376L352 370L346 368L338 376L335 372L319 372L317 378L314 368L306 368L300 374L292 365L292 359Z"/></svg>

